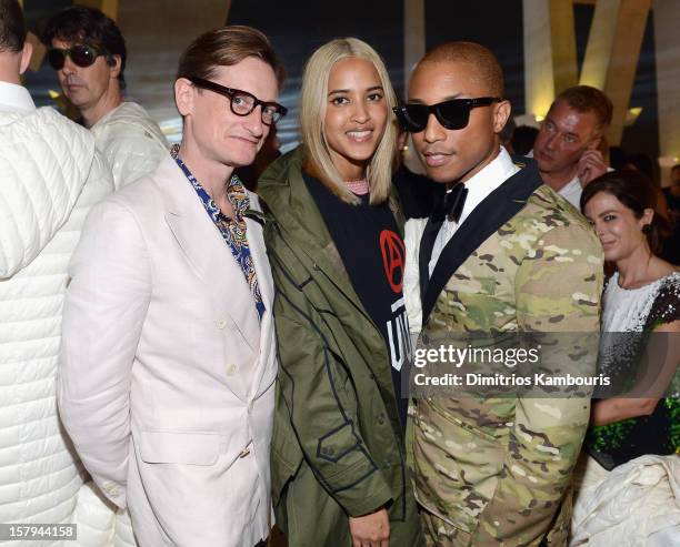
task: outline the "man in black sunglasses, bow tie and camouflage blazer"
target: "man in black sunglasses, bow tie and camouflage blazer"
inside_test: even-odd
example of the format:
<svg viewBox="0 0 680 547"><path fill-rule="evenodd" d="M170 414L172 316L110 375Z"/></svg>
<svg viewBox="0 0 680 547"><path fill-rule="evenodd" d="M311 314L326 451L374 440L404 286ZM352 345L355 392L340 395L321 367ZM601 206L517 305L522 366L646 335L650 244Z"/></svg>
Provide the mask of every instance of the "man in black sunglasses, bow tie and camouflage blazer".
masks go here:
<svg viewBox="0 0 680 547"><path fill-rule="evenodd" d="M406 278L409 316L422 317L418 347L428 341L477 347L527 332L594 333L597 343L601 247L586 221L542 184L536 162L500 146L510 103L493 54L472 42L434 48L396 112L427 174L447 185L427 224L410 239L407 232L407 260L418 261ZM566 354L572 350L564 338L557 343ZM594 368L593 350L580 366ZM518 392L492 398L451 389L418 398L413 475L429 545L564 545L567 492L589 406L587 397Z"/></svg>

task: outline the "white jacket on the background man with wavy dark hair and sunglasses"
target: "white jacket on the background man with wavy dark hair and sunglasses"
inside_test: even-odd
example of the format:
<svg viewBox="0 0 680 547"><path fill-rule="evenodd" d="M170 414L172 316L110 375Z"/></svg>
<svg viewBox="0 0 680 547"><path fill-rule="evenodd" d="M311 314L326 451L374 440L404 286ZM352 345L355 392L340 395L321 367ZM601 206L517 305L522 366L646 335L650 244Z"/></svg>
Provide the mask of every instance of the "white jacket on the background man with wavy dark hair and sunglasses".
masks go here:
<svg viewBox="0 0 680 547"><path fill-rule="evenodd" d="M149 113L136 102L123 102L91 128L104 155L116 190L152 171L168 154L169 145Z"/></svg>

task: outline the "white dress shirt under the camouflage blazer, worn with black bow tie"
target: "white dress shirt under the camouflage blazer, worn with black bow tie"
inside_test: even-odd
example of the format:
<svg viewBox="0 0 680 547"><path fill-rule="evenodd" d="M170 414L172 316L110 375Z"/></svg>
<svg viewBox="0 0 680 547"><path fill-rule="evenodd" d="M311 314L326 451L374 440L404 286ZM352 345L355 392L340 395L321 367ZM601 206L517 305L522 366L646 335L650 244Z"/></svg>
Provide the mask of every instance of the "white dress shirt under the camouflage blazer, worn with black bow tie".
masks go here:
<svg viewBox="0 0 680 547"><path fill-rule="evenodd" d="M458 227L466 222L466 219L491 192L499 188L503 182L510 179L520 170L514 163L510 154L503 146L500 148L499 154L479 173L466 181L463 184L468 189L468 196L463 205L460 220L458 222L446 219L439 229L434 245L432 246L432 256L430 257L429 272L430 277L434 271L434 266L441 256L441 252L449 243Z"/></svg>

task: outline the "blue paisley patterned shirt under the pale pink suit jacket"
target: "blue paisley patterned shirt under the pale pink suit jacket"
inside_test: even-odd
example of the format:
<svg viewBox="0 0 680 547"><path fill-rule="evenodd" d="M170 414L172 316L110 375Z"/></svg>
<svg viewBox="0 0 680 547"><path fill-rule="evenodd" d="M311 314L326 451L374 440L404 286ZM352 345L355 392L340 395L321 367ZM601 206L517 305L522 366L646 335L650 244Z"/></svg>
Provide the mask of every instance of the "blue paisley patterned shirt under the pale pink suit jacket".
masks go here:
<svg viewBox="0 0 680 547"><path fill-rule="evenodd" d="M250 199L248 197L246 186L237 175L232 175L227 184L227 196L229 197L236 213L234 217L230 219L220 211L220 207L217 205L217 203L214 203L212 197L210 197L208 192L206 192L206 189L196 179L196 176L191 174L191 171L189 171L189 168L184 165L184 162L180 160L178 155L178 144L172 146L170 153L172 154L172 158L174 158L174 161L179 168L187 175L187 179L191 183L193 190L196 190L196 193L200 197L208 216L210 216L210 220L220 231L220 234L222 234L224 242L227 245L229 245L231 254L246 276L246 281L248 282L248 286L250 287L250 292L258 311L258 317L262 320L266 308L264 303L262 302L262 295L260 294L260 286L258 284L258 276L256 275L252 255L250 254L250 246L248 245L248 239L246 236L246 217L243 214L250 207Z"/></svg>

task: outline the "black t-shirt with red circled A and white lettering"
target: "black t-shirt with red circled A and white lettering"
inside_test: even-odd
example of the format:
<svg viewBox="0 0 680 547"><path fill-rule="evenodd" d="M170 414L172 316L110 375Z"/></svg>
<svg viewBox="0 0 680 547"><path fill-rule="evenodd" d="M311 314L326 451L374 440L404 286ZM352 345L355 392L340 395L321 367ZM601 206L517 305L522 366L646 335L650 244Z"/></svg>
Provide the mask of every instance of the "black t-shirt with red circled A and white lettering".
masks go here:
<svg viewBox="0 0 680 547"><path fill-rule="evenodd" d="M407 373L411 341L402 293L406 252L394 216L388 203L369 205L368 195L360 196L361 204L350 205L312 176L304 174L304 182L357 296L386 341L399 417L404 427L408 399L400 396L401 373Z"/></svg>

